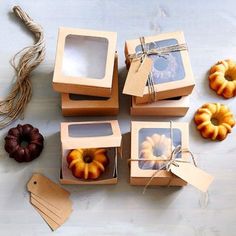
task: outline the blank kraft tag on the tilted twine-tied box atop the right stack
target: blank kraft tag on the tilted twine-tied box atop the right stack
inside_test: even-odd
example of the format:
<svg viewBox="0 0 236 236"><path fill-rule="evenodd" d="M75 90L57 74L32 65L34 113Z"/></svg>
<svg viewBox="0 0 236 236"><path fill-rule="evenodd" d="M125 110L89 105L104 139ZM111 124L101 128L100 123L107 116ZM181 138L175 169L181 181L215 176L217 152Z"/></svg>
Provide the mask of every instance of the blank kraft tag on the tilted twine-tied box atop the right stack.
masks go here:
<svg viewBox="0 0 236 236"><path fill-rule="evenodd" d="M146 57L142 65L140 65L140 63L140 60L133 60L131 62L123 89L124 94L138 97L143 96L153 61L151 58Z"/></svg>

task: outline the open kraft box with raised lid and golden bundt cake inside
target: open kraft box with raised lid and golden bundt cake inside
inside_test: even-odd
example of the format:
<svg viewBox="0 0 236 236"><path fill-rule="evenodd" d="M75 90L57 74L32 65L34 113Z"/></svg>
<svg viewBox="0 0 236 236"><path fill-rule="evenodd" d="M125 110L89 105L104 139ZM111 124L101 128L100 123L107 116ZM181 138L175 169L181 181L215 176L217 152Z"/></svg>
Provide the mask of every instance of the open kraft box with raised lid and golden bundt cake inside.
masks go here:
<svg viewBox="0 0 236 236"><path fill-rule="evenodd" d="M62 184L116 184L117 120L61 123Z"/></svg>

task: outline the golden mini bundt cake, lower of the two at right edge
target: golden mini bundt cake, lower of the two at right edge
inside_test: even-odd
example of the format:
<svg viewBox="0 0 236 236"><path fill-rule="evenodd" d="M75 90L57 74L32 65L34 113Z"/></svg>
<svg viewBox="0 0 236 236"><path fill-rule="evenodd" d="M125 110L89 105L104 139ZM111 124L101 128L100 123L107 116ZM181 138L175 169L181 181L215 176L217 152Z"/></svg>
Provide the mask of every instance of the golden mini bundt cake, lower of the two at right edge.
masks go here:
<svg viewBox="0 0 236 236"><path fill-rule="evenodd" d="M195 114L197 129L204 138L224 140L235 125L233 113L226 105L207 103Z"/></svg>

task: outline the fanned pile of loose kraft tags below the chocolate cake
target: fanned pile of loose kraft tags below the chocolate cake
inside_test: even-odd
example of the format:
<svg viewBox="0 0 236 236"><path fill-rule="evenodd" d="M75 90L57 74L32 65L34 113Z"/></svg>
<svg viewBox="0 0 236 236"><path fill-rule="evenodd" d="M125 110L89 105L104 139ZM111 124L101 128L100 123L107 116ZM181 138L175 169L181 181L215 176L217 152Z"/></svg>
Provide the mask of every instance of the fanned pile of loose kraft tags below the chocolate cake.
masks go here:
<svg viewBox="0 0 236 236"><path fill-rule="evenodd" d="M27 184L30 202L52 230L61 226L72 212L70 193L41 174L34 174Z"/></svg>

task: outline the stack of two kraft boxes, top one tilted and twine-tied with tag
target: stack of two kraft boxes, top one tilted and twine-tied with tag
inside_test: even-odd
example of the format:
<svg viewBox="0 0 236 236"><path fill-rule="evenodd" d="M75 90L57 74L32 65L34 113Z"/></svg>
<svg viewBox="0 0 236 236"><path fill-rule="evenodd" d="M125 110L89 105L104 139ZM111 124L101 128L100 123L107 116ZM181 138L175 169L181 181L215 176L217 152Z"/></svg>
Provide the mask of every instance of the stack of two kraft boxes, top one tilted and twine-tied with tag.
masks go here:
<svg viewBox="0 0 236 236"><path fill-rule="evenodd" d="M144 40L144 44L140 39L125 43L129 71L123 93L132 96L131 114L185 115L188 107L180 100L187 100L195 82L183 32L148 36ZM156 53L152 53L155 50ZM179 103L175 99L178 97L181 97ZM162 100L165 102L159 102ZM170 112L169 107L175 109Z"/></svg>

